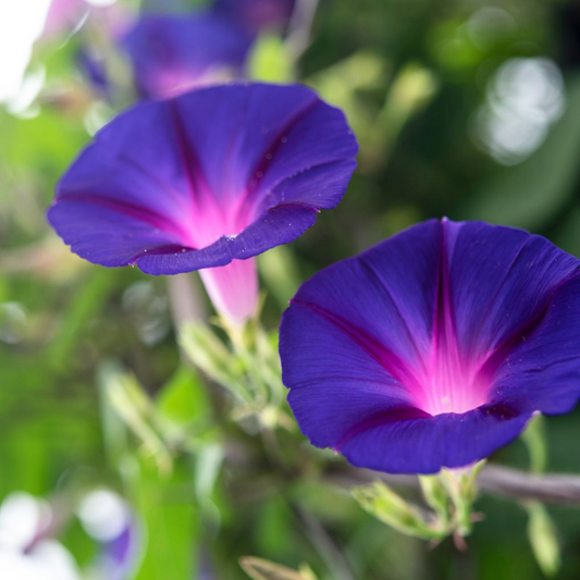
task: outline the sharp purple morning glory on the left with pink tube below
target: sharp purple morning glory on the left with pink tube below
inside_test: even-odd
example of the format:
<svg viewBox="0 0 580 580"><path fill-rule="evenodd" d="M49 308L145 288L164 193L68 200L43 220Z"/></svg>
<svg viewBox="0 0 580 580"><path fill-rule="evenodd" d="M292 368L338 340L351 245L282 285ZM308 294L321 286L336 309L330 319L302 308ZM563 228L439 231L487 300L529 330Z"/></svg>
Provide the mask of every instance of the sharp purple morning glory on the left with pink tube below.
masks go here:
<svg viewBox="0 0 580 580"><path fill-rule="evenodd" d="M101 129L58 184L48 219L92 263L203 269L213 304L243 321L258 292L252 257L338 203L357 149L342 111L304 86L198 89Z"/></svg>

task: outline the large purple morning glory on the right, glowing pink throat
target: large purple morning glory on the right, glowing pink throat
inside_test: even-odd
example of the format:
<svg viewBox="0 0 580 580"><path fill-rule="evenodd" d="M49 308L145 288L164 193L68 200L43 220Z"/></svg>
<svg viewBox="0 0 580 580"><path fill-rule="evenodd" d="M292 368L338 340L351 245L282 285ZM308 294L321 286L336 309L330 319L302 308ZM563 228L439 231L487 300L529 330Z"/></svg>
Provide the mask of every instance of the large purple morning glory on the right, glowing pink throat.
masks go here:
<svg viewBox="0 0 580 580"><path fill-rule="evenodd" d="M543 237L428 221L306 282L281 326L301 431L356 467L435 473L580 397L580 262Z"/></svg>

